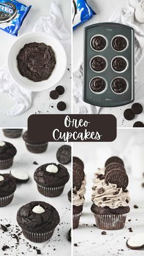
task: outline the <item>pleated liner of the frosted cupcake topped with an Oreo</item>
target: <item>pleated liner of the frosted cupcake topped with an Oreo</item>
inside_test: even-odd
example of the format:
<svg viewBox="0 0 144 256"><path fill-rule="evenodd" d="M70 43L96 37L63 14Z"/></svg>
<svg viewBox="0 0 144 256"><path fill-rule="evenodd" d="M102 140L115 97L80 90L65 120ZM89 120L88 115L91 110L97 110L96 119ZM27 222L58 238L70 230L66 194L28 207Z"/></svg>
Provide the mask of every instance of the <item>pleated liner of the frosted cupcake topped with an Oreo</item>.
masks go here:
<svg viewBox="0 0 144 256"><path fill-rule="evenodd" d="M94 214L98 229L118 230L123 229L126 222L126 214Z"/></svg>

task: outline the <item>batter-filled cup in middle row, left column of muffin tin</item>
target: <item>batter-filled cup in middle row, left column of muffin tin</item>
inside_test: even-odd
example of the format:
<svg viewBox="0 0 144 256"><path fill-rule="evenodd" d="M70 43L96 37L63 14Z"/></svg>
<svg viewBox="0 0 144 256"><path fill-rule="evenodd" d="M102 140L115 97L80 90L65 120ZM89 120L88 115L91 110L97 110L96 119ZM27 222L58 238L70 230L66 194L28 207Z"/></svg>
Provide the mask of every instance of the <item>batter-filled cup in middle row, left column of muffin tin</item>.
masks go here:
<svg viewBox="0 0 144 256"><path fill-rule="evenodd" d="M102 72L106 69L107 62L104 57L95 56L90 60L90 68L96 72Z"/></svg>

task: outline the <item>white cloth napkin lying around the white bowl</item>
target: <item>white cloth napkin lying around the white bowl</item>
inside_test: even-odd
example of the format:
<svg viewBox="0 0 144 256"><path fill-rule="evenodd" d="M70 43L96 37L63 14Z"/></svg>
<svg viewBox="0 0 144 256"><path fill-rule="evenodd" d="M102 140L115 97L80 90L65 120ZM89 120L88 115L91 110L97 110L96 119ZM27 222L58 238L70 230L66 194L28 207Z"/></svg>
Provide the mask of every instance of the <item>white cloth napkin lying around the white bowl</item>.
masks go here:
<svg viewBox="0 0 144 256"><path fill-rule="evenodd" d="M57 38L59 42L62 43L66 51L70 48L70 32L66 29L62 14L54 1L51 4L49 16L39 18L33 31L46 32ZM20 87L13 82L7 66L0 68L0 92L8 93L9 96L16 101L13 108L5 113L5 115L19 115L31 108L32 92L27 89L23 89L23 87Z"/></svg>

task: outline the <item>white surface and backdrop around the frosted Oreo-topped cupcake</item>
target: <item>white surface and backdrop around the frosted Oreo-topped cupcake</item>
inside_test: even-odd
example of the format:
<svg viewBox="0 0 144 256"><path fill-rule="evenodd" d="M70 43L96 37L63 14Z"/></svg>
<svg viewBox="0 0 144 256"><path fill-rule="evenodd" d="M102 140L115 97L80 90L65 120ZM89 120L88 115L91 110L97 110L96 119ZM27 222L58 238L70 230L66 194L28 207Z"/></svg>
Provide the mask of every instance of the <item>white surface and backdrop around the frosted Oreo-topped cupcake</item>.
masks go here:
<svg viewBox="0 0 144 256"><path fill-rule="evenodd" d="M103 230L93 226L93 224L95 224L95 218L90 210L92 206L93 174L98 167L104 166L109 155L115 154L121 156L121 152L123 152L131 136L135 136L135 139L137 139L139 134L134 130L118 130L118 137L116 141L112 143L82 142L73 144L74 156L79 156L84 161L87 182L85 203L80 225L78 229L73 230L73 244L77 244L77 247L73 246L73 256L143 255L144 249L135 251L126 247L126 241L131 235L143 232L144 230L144 188L142 188L144 178L132 177L131 169L129 169L129 166L127 167L128 163L126 163L128 153L125 155L124 164L126 164L126 170L129 176L128 189L129 196L131 197L131 211L127 216L126 227L121 230L106 230L107 235L101 235ZM136 169L135 172L139 172L139 169ZM135 209L134 205L137 205L139 208ZM129 219L131 219L131 221L128 221ZM130 227L133 232L129 232L128 228ZM121 251L121 249L123 251Z"/></svg>

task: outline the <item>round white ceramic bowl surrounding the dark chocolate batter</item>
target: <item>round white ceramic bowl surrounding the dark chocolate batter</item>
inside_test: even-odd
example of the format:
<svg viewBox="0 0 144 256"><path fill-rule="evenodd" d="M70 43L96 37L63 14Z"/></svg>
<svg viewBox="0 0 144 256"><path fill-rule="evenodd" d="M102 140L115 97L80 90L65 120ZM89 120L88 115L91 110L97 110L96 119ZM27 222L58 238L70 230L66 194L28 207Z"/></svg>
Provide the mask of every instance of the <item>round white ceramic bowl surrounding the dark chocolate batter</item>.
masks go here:
<svg viewBox="0 0 144 256"><path fill-rule="evenodd" d="M47 80L41 82L33 82L28 78L21 76L17 67L16 56L20 52L20 49L23 48L26 43L34 42L50 45L56 56L56 66L54 67L51 76L49 76ZM41 90L49 89L60 81L67 67L67 57L65 54L65 49L63 49L63 46L59 43L58 40L56 40L56 38L43 32L32 32L22 35L12 45L8 56L8 67L10 75L16 84L26 89L38 92Z"/></svg>

